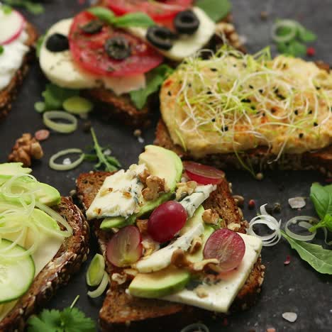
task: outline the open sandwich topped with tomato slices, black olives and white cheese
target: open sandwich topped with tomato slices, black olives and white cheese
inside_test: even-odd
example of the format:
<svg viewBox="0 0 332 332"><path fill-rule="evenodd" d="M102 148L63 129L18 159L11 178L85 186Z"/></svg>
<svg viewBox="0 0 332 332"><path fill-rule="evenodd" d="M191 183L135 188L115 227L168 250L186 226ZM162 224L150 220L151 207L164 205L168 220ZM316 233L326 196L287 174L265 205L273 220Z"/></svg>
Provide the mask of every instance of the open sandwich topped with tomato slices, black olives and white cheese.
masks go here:
<svg viewBox="0 0 332 332"><path fill-rule="evenodd" d="M184 57L213 49L223 36L240 48L233 25L222 21L227 13L217 8L211 18L191 0L101 1L50 27L40 67L53 84L82 90L110 116L145 126L155 92Z"/></svg>

